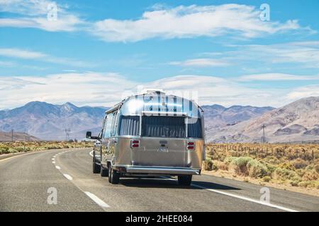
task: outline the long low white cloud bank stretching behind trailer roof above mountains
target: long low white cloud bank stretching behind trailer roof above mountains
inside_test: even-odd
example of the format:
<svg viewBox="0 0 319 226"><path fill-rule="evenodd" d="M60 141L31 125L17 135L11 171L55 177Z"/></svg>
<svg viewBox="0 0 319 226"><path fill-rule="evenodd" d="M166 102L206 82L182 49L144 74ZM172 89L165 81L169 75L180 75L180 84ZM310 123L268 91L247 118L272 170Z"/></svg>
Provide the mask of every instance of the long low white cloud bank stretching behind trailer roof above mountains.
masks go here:
<svg viewBox="0 0 319 226"><path fill-rule="evenodd" d="M48 76L0 77L0 109L40 100L61 104L111 106L138 90L162 89L187 95L194 92L200 105L220 104L280 107L291 90L254 88L213 76L172 76L149 83L130 81L117 73L60 73ZM196 99L196 98L195 98Z"/></svg>

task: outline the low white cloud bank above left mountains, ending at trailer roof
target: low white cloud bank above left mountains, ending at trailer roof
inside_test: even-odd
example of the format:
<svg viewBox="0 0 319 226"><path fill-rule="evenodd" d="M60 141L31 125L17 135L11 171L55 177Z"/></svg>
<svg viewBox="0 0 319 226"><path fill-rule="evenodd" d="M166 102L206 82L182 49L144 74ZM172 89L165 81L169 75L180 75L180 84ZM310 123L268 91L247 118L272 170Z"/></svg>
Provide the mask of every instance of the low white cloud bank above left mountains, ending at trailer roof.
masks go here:
<svg viewBox="0 0 319 226"><path fill-rule="evenodd" d="M0 109L40 100L61 104L110 106L136 83L117 73L61 73L48 76L0 77Z"/></svg>

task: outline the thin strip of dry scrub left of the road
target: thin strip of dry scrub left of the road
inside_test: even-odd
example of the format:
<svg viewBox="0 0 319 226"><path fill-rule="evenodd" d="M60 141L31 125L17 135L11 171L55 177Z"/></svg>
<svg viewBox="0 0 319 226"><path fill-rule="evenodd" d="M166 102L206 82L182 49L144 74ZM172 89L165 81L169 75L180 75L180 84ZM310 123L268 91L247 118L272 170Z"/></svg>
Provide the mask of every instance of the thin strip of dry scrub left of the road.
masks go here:
<svg viewBox="0 0 319 226"><path fill-rule="evenodd" d="M74 141L16 141L0 142L0 155L10 153L23 153L37 150L50 150L62 148L90 148L94 143Z"/></svg>

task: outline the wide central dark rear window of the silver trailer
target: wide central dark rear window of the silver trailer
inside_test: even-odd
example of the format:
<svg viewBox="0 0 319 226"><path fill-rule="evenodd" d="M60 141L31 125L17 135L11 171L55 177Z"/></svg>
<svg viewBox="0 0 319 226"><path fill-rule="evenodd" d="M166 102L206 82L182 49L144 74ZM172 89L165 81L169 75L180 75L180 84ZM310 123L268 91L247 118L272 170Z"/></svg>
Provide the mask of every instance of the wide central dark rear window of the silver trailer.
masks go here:
<svg viewBox="0 0 319 226"><path fill-rule="evenodd" d="M184 117L142 117L142 136L185 138Z"/></svg>

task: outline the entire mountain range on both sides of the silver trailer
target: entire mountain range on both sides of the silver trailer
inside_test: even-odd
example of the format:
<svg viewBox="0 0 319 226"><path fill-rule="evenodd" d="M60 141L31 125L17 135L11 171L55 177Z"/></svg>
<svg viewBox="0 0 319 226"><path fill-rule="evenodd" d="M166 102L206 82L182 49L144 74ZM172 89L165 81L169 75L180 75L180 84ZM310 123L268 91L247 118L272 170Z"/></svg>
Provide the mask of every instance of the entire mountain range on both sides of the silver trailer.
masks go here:
<svg viewBox="0 0 319 226"><path fill-rule="evenodd" d="M267 142L319 140L319 97L304 98L277 109L240 105L202 108L206 141L260 142L263 125ZM29 102L23 107L0 111L0 131L13 129L41 140L82 139L86 131L97 134L101 130L106 109L77 107L69 102L64 105Z"/></svg>

